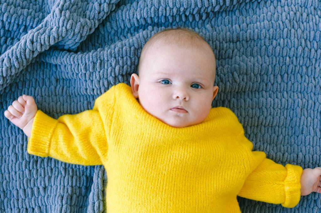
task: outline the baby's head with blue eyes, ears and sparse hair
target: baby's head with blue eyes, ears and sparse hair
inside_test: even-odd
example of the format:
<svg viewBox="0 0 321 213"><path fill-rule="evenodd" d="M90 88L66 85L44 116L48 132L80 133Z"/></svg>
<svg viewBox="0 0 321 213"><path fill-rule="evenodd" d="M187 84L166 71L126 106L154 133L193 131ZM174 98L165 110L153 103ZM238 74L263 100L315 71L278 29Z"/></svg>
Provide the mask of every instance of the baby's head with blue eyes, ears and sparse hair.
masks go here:
<svg viewBox="0 0 321 213"><path fill-rule="evenodd" d="M197 33L161 31L144 45L132 93L149 114L173 127L201 123L212 108L215 56Z"/></svg>

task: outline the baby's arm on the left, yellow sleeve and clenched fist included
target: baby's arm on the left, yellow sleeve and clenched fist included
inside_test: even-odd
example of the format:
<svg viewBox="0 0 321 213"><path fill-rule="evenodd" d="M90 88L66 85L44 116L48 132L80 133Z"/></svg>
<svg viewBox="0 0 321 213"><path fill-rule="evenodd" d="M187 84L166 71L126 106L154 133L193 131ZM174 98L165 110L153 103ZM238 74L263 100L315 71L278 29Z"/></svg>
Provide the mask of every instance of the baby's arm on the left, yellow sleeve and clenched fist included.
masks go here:
<svg viewBox="0 0 321 213"><path fill-rule="evenodd" d="M54 119L37 110L31 96L23 95L4 114L29 137L29 154L74 164L101 165L101 156L107 153L104 123L96 105L93 110Z"/></svg>

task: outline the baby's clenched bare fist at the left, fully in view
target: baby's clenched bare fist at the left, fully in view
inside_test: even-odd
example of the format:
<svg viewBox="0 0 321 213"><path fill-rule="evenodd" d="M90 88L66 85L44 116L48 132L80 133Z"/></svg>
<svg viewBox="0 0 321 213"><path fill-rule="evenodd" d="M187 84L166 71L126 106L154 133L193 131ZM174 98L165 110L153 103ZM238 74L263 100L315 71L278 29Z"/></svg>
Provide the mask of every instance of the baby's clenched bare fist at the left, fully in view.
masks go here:
<svg viewBox="0 0 321 213"><path fill-rule="evenodd" d="M31 96L22 95L18 100L13 101L8 110L4 111L4 116L30 137L37 110L35 100Z"/></svg>

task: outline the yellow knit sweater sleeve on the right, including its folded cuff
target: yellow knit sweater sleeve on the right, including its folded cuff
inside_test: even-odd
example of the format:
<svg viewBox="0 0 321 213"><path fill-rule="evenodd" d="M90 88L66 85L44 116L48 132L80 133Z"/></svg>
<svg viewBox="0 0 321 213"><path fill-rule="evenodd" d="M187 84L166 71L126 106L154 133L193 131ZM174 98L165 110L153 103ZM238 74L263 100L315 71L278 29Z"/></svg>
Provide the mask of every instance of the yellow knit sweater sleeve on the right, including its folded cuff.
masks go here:
<svg viewBox="0 0 321 213"><path fill-rule="evenodd" d="M252 143L245 137L248 150ZM249 157L255 168L246 178L239 196L256 201L282 204L292 208L300 201L300 177L302 168L287 164L285 167L265 157L265 153L253 151Z"/></svg>

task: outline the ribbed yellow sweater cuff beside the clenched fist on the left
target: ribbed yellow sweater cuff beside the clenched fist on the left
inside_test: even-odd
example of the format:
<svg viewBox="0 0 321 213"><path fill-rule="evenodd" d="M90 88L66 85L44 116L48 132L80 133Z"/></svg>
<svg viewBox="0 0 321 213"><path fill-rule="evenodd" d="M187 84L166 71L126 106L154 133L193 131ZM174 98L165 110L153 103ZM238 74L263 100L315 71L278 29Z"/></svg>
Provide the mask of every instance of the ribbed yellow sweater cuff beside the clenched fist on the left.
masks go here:
<svg viewBox="0 0 321 213"><path fill-rule="evenodd" d="M43 113L37 111L34 117L31 136L28 141L27 150L29 154L47 157L52 133L58 121Z"/></svg>

